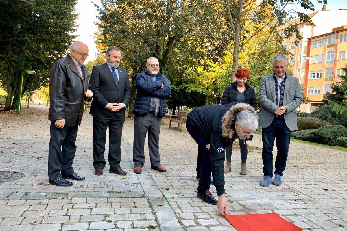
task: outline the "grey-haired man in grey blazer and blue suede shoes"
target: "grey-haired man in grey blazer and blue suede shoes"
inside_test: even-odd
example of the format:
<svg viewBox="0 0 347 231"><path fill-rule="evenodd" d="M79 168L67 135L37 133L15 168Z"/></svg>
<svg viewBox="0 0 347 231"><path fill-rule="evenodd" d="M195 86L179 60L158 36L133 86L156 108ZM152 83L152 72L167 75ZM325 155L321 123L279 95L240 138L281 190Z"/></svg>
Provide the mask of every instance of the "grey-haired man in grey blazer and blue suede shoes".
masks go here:
<svg viewBox="0 0 347 231"><path fill-rule="evenodd" d="M298 78L286 73L288 61L285 55L273 59L274 73L261 78L258 99L261 104L259 126L263 138L263 172L260 185L268 187L272 179L272 149L276 139L277 156L273 185L281 185L286 168L290 133L298 129L296 108L303 102Z"/></svg>

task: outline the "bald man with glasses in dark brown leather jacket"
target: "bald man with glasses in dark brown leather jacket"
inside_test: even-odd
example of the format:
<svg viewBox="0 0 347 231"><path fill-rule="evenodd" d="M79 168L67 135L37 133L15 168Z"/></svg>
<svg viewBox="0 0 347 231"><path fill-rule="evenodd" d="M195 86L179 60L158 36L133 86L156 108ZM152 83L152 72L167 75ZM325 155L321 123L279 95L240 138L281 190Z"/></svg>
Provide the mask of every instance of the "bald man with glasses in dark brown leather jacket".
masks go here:
<svg viewBox="0 0 347 231"><path fill-rule="evenodd" d="M70 53L58 60L49 75L51 139L48 151L48 179L57 186L70 186L66 179L84 180L72 167L76 153L77 128L81 124L84 100L93 93L88 89L88 71L83 65L88 47L82 42L70 45ZM62 147L62 148L61 148Z"/></svg>

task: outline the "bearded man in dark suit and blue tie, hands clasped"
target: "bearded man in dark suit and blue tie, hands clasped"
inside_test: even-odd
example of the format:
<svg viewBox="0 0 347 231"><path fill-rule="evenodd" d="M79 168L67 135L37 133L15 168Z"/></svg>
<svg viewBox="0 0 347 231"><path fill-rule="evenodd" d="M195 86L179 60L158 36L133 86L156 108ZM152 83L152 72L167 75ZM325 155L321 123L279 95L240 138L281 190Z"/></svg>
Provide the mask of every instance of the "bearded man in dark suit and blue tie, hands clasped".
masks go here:
<svg viewBox="0 0 347 231"><path fill-rule="evenodd" d="M93 67L90 76L94 94L90 114L93 116L93 166L95 175L102 175L106 165L104 158L106 130L109 127L110 173L126 175L120 168L120 142L124 124L125 108L130 101L131 88L127 70L119 66L121 50L111 46L107 49L106 62Z"/></svg>

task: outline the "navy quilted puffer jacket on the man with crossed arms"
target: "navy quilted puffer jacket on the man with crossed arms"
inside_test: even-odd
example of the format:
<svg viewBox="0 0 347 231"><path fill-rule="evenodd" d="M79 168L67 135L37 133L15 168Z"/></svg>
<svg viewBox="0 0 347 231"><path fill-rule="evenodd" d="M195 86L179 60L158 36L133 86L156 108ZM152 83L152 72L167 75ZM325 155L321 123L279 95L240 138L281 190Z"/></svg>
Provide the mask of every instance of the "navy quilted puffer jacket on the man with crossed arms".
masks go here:
<svg viewBox="0 0 347 231"><path fill-rule="evenodd" d="M163 88L161 88L162 84L164 85ZM171 94L171 85L166 75L159 72L156 81L152 81L151 75L146 69L145 72L137 74L135 85L137 92L133 114L148 114L150 110L151 98L156 97L160 99L161 113L158 115L160 118L164 117L166 109L166 97Z"/></svg>

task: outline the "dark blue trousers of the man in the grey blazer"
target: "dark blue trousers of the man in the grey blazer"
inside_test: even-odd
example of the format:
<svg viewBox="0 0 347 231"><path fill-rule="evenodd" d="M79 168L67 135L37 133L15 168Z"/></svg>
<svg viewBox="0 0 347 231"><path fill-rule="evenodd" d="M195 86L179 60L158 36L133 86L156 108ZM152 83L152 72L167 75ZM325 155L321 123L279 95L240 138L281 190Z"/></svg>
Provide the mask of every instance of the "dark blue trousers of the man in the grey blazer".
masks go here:
<svg viewBox="0 0 347 231"><path fill-rule="evenodd" d="M286 168L289 143L290 143L290 130L288 129L284 118L275 117L268 127L262 127L263 138L263 172L264 176L272 177L272 149L276 139L277 156L275 162L275 174L283 175Z"/></svg>

